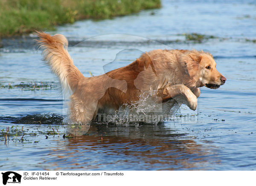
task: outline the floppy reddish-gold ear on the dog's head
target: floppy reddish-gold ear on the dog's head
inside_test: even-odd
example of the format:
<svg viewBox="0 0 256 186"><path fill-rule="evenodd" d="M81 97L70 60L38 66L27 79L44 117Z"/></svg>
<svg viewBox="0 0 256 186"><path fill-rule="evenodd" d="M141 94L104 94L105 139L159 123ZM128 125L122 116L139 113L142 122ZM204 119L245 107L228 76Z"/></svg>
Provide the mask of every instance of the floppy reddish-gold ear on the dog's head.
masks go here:
<svg viewBox="0 0 256 186"><path fill-rule="evenodd" d="M199 72L199 64L202 60L202 55L197 51L192 51L185 54L184 61L186 63L186 69L188 70L190 77L195 77Z"/></svg>

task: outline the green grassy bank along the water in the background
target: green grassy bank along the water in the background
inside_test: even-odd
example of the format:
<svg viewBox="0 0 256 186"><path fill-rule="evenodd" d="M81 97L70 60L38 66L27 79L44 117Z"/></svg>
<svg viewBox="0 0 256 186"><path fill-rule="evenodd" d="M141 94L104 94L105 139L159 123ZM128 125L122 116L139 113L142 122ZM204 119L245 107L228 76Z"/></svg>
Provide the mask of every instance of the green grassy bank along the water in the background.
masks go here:
<svg viewBox="0 0 256 186"><path fill-rule="evenodd" d="M160 0L0 0L0 37L160 7Z"/></svg>

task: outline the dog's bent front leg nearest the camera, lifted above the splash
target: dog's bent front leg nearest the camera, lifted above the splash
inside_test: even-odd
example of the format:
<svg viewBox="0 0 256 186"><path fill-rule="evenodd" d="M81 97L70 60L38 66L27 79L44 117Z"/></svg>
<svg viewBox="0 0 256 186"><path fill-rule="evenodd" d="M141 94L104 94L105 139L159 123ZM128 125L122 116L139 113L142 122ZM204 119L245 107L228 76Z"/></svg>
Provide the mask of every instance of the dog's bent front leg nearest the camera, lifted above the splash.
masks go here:
<svg viewBox="0 0 256 186"><path fill-rule="evenodd" d="M200 92L195 93L197 93L198 96L200 94ZM197 96L183 84L175 84L158 89L157 96L161 97L163 101L170 98L175 99L177 102L186 104L191 110L197 108Z"/></svg>

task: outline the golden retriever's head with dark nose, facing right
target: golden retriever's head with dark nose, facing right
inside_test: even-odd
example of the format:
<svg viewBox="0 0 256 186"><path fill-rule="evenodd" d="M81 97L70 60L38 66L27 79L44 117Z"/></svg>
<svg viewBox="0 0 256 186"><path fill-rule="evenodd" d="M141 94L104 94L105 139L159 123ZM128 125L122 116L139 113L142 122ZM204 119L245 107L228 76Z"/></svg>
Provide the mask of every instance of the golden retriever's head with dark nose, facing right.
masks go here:
<svg viewBox="0 0 256 186"><path fill-rule="evenodd" d="M216 62L210 53L193 50L185 55L189 76L198 81L199 87L217 89L227 80L216 69Z"/></svg>

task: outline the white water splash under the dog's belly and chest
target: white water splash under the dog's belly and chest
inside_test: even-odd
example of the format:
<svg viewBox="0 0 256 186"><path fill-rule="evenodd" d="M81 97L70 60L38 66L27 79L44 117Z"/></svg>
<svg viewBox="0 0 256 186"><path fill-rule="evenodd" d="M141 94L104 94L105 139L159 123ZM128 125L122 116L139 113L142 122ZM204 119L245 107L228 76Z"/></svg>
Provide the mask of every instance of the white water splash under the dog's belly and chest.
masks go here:
<svg viewBox="0 0 256 186"><path fill-rule="evenodd" d="M124 104L118 110L100 110L95 121L119 126L137 126L157 125L159 122L171 120L181 104L175 99L164 103L159 103L156 99L148 93L143 93L139 101Z"/></svg>

